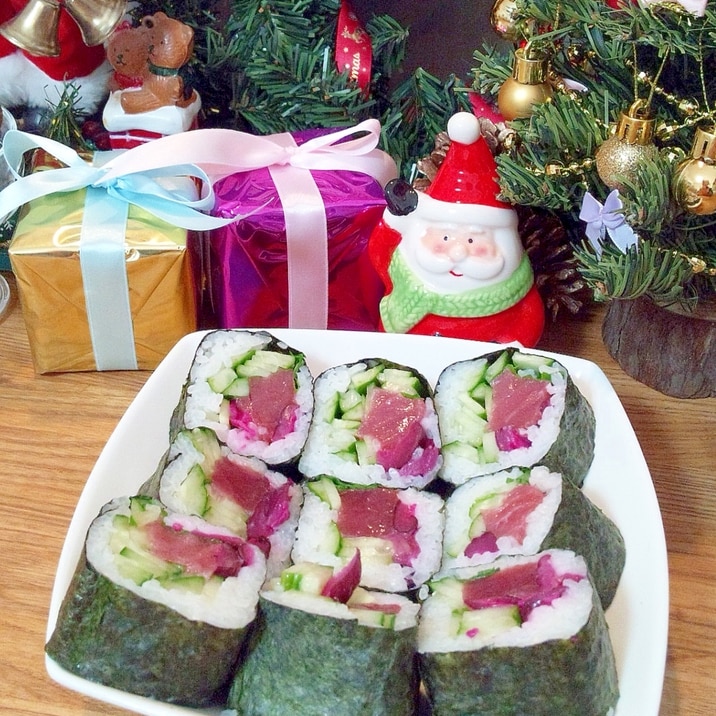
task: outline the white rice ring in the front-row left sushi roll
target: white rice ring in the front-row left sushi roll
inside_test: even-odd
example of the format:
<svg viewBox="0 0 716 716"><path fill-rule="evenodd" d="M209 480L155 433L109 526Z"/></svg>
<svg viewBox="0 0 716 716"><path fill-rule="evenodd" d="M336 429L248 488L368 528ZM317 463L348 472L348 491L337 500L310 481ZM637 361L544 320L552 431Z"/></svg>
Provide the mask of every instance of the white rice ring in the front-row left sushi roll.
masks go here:
<svg viewBox="0 0 716 716"><path fill-rule="evenodd" d="M97 572L137 596L173 609L191 621L205 622L223 629L239 629L254 619L259 590L266 577L266 560L261 550L248 545L252 552L252 564L242 567L237 576L222 580L218 587L209 583L200 593L166 589L156 579L150 579L140 586L123 577L114 560L110 540L114 531L113 519L117 514L130 514L128 497L115 498L109 502L87 533L87 561ZM228 530L208 525L198 518L185 519L182 524L185 524L185 529L199 528L207 534L231 535Z"/></svg>

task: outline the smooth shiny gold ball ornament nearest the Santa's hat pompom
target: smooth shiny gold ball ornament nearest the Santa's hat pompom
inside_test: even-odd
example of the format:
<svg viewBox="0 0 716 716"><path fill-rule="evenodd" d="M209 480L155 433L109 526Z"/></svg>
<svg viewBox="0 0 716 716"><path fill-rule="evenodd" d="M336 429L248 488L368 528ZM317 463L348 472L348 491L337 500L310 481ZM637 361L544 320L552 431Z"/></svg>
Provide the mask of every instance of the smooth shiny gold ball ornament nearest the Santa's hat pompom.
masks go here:
<svg viewBox="0 0 716 716"><path fill-rule="evenodd" d="M497 108L506 119L525 119L536 104L549 102L554 88L548 79L549 59L541 52L520 47L515 50L512 76L497 93Z"/></svg>

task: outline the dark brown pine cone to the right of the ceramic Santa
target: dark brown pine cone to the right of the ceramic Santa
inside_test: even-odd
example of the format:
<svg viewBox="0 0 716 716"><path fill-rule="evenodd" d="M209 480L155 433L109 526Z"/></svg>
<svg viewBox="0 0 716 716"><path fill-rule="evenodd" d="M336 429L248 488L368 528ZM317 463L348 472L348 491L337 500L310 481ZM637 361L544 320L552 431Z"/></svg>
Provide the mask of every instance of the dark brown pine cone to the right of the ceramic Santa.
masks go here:
<svg viewBox="0 0 716 716"><path fill-rule="evenodd" d="M535 285L552 320L561 309L579 314L592 292L577 270L572 245L557 216L518 206L518 232L535 273Z"/></svg>

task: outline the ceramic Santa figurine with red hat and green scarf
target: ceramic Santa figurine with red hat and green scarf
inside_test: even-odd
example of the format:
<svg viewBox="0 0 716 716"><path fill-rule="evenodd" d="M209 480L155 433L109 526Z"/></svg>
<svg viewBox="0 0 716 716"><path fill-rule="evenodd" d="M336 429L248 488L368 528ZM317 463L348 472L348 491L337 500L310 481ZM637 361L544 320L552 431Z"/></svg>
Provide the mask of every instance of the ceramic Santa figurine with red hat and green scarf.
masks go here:
<svg viewBox="0 0 716 716"><path fill-rule="evenodd" d="M386 288L382 328L534 346L544 305L517 214L497 198L494 157L473 114L453 115L447 131L450 147L428 189L412 201L388 196L370 238Z"/></svg>

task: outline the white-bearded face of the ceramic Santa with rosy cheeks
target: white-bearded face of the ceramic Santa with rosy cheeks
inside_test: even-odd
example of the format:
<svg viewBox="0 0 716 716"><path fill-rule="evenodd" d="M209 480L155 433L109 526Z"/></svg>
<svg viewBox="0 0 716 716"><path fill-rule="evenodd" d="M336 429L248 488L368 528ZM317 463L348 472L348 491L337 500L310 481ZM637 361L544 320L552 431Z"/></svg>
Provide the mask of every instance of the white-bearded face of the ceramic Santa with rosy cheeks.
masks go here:
<svg viewBox="0 0 716 716"><path fill-rule="evenodd" d="M515 269L513 241L500 242L504 230L461 224L415 228L412 240L403 234L401 245L412 247L408 263L433 290L468 291L501 281Z"/></svg>

